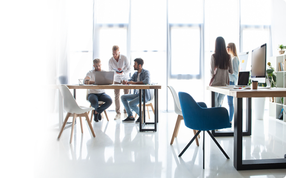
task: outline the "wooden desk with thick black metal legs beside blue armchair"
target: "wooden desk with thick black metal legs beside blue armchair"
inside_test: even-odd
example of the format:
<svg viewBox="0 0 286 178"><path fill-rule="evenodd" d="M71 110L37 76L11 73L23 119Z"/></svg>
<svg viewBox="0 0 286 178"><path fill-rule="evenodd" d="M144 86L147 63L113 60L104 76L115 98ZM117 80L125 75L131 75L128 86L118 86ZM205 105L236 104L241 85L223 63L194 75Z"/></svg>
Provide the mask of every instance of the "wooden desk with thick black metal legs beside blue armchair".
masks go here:
<svg viewBox="0 0 286 178"><path fill-rule="evenodd" d="M233 89L229 87L207 87L212 91L211 106L214 107L214 92L222 93L234 97L234 132L219 133L212 131L214 136L234 136L233 163L237 170L257 170L257 169L285 169L286 159L255 159L242 160L242 135L251 135L251 98L254 97L286 97L286 89ZM246 132L242 132L242 98L246 98ZM283 153L281 153L283 154Z"/></svg>

